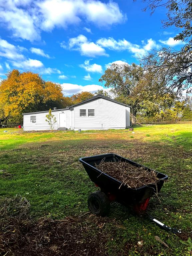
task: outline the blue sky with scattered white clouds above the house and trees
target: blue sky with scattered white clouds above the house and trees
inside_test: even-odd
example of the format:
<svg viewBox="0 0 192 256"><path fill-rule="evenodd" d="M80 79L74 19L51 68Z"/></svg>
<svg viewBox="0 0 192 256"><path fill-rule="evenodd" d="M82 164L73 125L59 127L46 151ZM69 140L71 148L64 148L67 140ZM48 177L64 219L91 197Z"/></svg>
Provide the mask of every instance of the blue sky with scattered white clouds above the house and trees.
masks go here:
<svg viewBox="0 0 192 256"><path fill-rule="evenodd" d="M184 43L163 29L166 9L143 12L141 0L1 0L0 76L38 72L60 83L65 96L95 92L110 63L139 63L152 49Z"/></svg>

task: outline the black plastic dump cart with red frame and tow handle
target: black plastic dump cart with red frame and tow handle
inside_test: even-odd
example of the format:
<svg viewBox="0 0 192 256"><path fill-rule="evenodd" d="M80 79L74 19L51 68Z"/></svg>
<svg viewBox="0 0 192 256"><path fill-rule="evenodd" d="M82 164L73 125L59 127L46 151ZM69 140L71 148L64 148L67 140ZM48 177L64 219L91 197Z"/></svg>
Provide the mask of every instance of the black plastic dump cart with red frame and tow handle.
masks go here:
<svg viewBox="0 0 192 256"><path fill-rule="evenodd" d="M156 194L156 192L159 192L163 186L164 181L168 179L167 175L156 172L157 178L159 179L156 185L148 184L139 188L129 188L126 185L122 185L119 180L109 176L108 174L96 168L96 165L99 165L101 161L121 161L128 162L131 165L134 165L136 167L142 167L149 171L151 171L152 169L113 153L83 157L80 158L79 161L83 164L83 167L85 168L91 181L100 188L100 190L91 193L88 197L88 207L90 211L93 214L100 216L105 216L109 213L110 202L112 201L117 201L126 206L132 206L134 211L138 214L145 212L150 197ZM180 230L168 227L167 225L156 220L152 216L148 216L161 228L171 231L175 234L181 233Z"/></svg>

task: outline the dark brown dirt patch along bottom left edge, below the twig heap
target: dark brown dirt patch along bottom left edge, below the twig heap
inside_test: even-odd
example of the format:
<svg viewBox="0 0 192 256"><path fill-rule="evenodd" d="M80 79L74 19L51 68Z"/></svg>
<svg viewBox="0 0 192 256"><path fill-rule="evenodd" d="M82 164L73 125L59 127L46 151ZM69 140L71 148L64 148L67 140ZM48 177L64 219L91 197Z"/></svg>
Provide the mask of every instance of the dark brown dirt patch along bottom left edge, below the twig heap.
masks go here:
<svg viewBox="0 0 192 256"><path fill-rule="evenodd" d="M105 256L107 236L99 229L93 231L93 228L94 223L76 222L70 218L22 222L14 235L8 238L8 233L3 235L1 240L5 242L0 248L14 256Z"/></svg>

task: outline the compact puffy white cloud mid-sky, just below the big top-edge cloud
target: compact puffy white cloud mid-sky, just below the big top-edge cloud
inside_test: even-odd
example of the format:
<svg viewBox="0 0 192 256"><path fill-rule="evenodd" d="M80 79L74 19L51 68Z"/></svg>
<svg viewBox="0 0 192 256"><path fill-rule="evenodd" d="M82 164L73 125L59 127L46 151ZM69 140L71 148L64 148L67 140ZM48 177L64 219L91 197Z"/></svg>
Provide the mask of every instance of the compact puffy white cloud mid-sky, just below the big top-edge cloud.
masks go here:
<svg viewBox="0 0 192 256"><path fill-rule="evenodd" d="M61 47L66 48L66 45L62 43ZM108 56L105 52L105 49L103 49L98 44L89 42L87 37L84 35L70 38L68 48L70 50L79 51L81 55L88 57Z"/></svg>

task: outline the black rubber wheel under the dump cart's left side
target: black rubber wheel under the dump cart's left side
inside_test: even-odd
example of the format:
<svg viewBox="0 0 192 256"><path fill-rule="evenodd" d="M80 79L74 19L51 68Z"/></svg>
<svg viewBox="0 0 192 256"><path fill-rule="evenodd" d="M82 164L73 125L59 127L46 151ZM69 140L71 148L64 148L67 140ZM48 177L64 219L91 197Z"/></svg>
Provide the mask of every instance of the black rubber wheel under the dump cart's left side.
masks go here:
<svg viewBox="0 0 192 256"><path fill-rule="evenodd" d="M99 190L89 195L88 207L93 214L106 216L110 210L110 201L108 197Z"/></svg>

